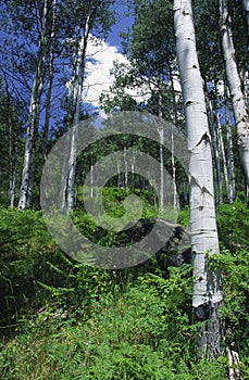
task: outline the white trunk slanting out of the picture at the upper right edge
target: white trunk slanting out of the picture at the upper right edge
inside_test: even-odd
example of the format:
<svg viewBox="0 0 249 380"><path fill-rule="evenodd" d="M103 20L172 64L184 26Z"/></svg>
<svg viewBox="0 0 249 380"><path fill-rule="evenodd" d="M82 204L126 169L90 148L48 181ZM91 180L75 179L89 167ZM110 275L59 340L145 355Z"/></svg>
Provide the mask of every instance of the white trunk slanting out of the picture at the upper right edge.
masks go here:
<svg viewBox="0 0 249 380"><path fill-rule="evenodd" d="M241 80L235 61L235 49L231 28L231 17L227 9L227 0L220 0L220 17L222 49L237 128L239 154L245 169L246 181L249 186L249 117L246 97L241 89Z"/></svg>

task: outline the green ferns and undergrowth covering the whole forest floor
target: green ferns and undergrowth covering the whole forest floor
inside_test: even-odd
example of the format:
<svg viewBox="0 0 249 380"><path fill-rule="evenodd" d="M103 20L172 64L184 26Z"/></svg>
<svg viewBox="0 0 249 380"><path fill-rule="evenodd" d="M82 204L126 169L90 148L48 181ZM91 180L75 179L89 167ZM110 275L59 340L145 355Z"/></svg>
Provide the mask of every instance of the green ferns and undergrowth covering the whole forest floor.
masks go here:
<svg viewBox="0 0 249 380"><path fill-rule="evenodd" d="M107 208L115 217L124 194L109 192ZM210 259L222 274L226 342L236 345L244 379L248 214L242 202L217 207L221 255ZM150 208L145 215L154 216ZM94 242L119 243L83 211L72 219ZM188 226L187 207L178 223ZM63 254L41 212L7 208L0 208L0 379L228 379L226 357L197 358L190 266L166 273L153 261L116 270L87 266Z"/></svg>

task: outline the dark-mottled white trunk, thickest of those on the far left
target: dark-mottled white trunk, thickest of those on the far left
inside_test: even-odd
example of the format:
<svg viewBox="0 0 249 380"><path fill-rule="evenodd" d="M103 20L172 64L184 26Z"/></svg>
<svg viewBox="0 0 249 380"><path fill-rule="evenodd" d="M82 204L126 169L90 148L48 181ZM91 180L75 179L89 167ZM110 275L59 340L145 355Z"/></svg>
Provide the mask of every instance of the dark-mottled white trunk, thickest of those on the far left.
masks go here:
<svg viewBox="0 0 249 380"><path fill-rule="evenodd" d="M18 208L30 208L33 203L33 186L35 175L35 148L40 116L40 99L43 90L46 54L48 49L48 30L52 0L43 1L42 27L39 40L36 75L33 83L28 114L28 127L25 140L23 175L21 182Z"/></svg>

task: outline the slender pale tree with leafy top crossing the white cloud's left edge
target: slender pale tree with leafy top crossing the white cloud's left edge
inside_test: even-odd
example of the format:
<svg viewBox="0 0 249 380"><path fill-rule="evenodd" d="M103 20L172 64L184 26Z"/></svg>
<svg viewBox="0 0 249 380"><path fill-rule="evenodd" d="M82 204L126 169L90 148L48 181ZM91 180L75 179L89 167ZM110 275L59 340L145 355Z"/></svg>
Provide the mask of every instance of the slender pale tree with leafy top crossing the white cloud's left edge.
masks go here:
<svg viewBox="0 0 249 380"><path fill-rule="evenodd" d="M112 4L113 0L88 0L75 4L76 14L76 36L73 40L74 54L72 66L72 78L70 84L70 121L72 127L70 145L70 173L66 186L66 210L74 210L75 197L75 170L76 170L76 141L77 127L82 115L83 89L85 81L85 67L87 59L87 47L90 40L97 38L91 36L96 30L99 36L107 35L114 23ZM95 42L94 41L94 42Z"/></svg>

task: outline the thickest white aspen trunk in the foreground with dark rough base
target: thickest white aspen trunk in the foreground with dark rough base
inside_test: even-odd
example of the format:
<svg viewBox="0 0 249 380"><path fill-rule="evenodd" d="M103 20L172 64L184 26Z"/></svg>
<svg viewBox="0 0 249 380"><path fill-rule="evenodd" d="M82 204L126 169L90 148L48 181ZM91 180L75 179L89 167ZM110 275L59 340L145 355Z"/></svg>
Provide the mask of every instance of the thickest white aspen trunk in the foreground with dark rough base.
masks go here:
<svg viewBox="0 0 249 380"><path fill-rule="evenodd" d="M198 339L200 354L213 359L222 352L223 328L219 308L223 303L223 295L220 276L209 267L207 256L207 253L219 253L219 239L211 142L190 0L174 0L174 24L190 152L194 318L196 321L203 321Z"/></svg>

